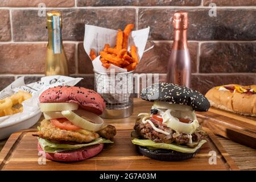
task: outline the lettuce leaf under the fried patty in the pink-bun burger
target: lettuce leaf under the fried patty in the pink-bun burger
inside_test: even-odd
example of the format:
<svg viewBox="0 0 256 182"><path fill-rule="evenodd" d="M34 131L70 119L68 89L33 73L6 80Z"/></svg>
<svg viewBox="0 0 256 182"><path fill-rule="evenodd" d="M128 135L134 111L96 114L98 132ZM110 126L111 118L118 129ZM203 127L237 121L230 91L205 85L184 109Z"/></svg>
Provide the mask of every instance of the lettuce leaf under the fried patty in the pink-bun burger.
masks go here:
<svg viewBox="0 0 256 182"><path fill-rule="evenodd" d="M100 143L114 143L111 140L105 139L105 138L97 138L96 140L93 140L90 143L84 143L84 144L60 144L60 143L52 143L49 140L38 138L38 141L40 143L40 146L42 147L44 152L48 153L56 153L56 152L62 152L62 151L68 151L68 150L75 150L82 147L92 146L94 144L100 144Z"/></svg>

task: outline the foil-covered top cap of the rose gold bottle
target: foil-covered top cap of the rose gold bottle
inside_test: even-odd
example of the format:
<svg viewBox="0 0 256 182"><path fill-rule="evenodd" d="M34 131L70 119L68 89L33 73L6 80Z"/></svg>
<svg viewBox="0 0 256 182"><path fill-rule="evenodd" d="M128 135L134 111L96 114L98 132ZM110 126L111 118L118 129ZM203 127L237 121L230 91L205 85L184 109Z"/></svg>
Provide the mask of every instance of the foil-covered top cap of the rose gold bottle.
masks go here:
<svg viewBox="0 0 256 182"><path fill-rule="evenodd" d="M186 11L176 11L172 21L174 28L187 29L188 28L188 13Z"/></svg>

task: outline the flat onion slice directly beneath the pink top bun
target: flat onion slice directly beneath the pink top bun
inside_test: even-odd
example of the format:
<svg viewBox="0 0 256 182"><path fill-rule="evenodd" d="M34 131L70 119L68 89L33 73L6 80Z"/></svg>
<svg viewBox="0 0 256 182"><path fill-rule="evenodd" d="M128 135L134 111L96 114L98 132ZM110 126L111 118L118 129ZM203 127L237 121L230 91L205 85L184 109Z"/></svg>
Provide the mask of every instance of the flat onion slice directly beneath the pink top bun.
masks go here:
<svg viewBox="0 0 256 182"><path fill-rule="evenodd" d="M79 104L76 103L40 103L40 110L46 111L63 111L63 110L77 110Z"/></svg>

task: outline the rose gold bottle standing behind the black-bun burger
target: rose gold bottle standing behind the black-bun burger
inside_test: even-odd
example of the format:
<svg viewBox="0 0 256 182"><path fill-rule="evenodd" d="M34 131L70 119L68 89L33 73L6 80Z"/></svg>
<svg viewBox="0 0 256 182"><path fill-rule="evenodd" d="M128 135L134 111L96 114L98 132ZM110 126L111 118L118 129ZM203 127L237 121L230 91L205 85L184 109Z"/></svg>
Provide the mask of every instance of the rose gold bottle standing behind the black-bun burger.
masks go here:
<svg viewBox="0 0 256 182"><path fill-rule="evenodd" d="M191 59L188 51L188 13L176 11L173 18L174 44L168 63L167 82L190 87Z"/></svg>

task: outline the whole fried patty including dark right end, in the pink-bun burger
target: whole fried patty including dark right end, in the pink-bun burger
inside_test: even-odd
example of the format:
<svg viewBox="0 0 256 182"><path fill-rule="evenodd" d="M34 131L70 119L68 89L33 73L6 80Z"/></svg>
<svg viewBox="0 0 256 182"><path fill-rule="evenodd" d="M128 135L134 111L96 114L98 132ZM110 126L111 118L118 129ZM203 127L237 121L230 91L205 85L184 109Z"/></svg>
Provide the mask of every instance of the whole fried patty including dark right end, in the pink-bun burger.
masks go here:
<svg viewBox="0 0 256 182"><path fill-rule="evenodd" d="M62 130L52 125L51 121L44 119L40 125L40 131L36 136L50 140L54 143L67 143L67 142L77 142L77 143L88 143L92 142L99 137L106 139L113 139L114 135L117 133L115 127L108 125L104 129L93 132L86 130L85 133L80 133L74 130Z"/></svg>

